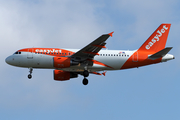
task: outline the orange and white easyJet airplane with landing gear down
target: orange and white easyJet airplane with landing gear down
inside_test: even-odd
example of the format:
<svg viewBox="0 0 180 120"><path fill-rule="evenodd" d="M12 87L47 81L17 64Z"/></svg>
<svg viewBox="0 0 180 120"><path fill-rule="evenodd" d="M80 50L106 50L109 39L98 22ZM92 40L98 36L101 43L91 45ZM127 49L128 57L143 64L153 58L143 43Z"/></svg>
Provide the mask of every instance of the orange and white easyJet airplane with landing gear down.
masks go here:
<svg viewBox="0 0 180 120"><path fill-rule="evenodd" d="M101 50L113 32L104 34L82 49L25 48L5 59L12 66L33 69L54 69L54 80L66 81L84 76L83 85L88 84L89 74L104 75L107 71L138 68L175 59L168 52L166 41L171 24L161 24L137 50ZM100 71L105 71L100 73Z"/></svg>

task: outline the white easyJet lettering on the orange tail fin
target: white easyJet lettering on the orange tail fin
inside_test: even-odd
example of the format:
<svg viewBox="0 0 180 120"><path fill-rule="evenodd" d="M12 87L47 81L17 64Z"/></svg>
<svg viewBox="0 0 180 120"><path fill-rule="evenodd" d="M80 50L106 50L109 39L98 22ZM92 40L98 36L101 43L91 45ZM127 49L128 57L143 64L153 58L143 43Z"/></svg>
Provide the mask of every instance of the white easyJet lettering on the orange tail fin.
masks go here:
<svg viewBox="0 0 180 120"><path fill-rule="evenodd" d="M166 30L168 30L168 27L164 25L161 30L157 31L156 36L154 36L154 38L148 43L148 45L146 45L145 48L149 50L157 41L159 41L159 38L166 32Z"/></svg>

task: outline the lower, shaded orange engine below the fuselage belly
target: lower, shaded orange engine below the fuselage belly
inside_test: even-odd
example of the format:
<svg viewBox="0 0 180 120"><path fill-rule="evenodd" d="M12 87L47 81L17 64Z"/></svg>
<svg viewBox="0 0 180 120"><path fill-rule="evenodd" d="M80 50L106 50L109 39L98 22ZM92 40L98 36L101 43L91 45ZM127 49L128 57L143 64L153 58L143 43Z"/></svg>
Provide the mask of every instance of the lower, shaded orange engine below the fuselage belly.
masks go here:
<svg viewBox="0 0 180 120"><path fill-rule="evenodd" d="M54 70L54 80L57 81L66 81L76 77L78 77L78 74L72 72L66 72L63 70Z"/></svg>

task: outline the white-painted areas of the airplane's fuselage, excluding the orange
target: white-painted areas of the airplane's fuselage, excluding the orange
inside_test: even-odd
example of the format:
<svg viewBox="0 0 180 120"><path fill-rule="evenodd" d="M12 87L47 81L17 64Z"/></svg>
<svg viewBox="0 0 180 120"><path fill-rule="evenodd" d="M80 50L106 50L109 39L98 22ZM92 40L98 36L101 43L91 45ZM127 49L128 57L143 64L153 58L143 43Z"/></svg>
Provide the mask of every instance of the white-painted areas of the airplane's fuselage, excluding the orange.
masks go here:
<svg viewBox="0 0 180 120"><path fill-rule="evenodd" d="M72 52L77 52L79 49L66 49ZM101 50L99 55L94 57L95 61L92 66L87 66L90 72L93 71L103 71L103 70L120 70L125 62L136 52L134 51L124 51L124 50ZM53 66L53 58L55 56L47 55L43 53L31 53L31 52L21 52L20 54L13 54L6 58L6 62L10 65L25 68L40 68L40 69L57 69ZM174 56L167 54L162 58L162 61L167 61L172 59ZM134 62L138 62L138 57ZM64 71L83 71L85 64L71 66L68 68L58 68Z"/></svg>

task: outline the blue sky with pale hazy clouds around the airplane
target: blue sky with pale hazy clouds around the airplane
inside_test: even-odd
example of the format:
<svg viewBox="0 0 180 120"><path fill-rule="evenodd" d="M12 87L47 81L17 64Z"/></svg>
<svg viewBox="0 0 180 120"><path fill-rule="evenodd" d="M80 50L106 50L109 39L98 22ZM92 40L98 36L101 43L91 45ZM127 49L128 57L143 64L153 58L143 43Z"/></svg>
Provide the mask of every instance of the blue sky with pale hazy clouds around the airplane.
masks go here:
<svg viewBox="0 0 180 120"><path fill-rule="evenodd" d="M179 0L0 0L0 119L179 120ZM161 23L176 59L65 82L53 70L7 65L27 47L82 48L114 31L106 47L138 49Z"/></svg>

